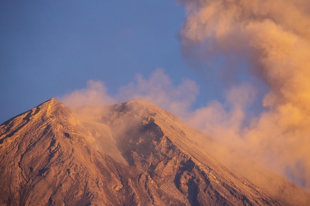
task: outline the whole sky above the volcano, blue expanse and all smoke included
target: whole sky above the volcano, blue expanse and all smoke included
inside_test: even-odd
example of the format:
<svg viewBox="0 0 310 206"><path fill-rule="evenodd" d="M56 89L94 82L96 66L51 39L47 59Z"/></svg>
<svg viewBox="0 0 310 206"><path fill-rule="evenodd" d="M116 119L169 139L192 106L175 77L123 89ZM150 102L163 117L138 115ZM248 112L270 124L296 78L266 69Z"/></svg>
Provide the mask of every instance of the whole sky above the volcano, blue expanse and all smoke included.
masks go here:
<svg viewBox="0 0 310 206"><path fill-rule="evenodd" d="M0 122L150 100L310 191L310 1L0 1Z"/></svg>

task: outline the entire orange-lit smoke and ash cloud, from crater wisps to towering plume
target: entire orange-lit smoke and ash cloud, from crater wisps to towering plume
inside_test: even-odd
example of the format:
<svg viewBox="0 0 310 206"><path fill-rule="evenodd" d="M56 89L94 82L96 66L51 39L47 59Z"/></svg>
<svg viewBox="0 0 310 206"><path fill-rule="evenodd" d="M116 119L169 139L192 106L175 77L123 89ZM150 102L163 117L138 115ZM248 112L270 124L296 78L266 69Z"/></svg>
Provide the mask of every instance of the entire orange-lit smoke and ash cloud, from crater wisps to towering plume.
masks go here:
<svg viewBox="0 0 310 206"><path fill-rule="evenodd" d="M309 1L180 1L187 12L183 55L211 67L224 85L223 102L193 110L199 86L175 85L163 69L138 74L113 96L90 81L62 101L76 107L147 99L310 191ZM261 108L255 115L254 104Z"/></svg>

